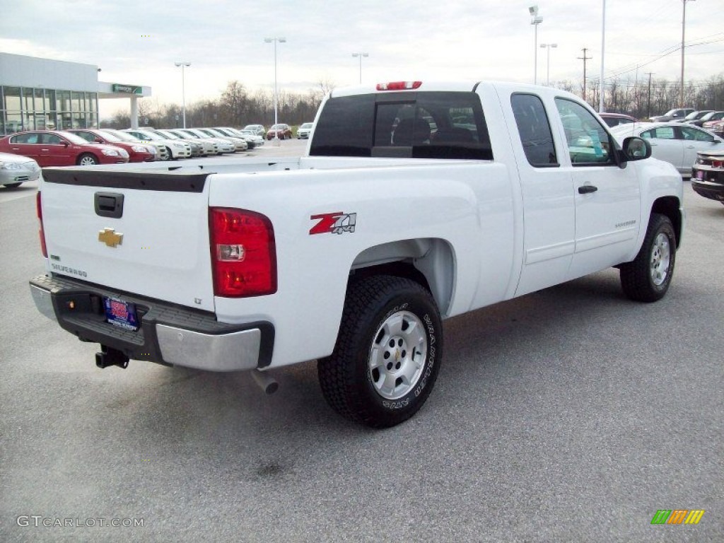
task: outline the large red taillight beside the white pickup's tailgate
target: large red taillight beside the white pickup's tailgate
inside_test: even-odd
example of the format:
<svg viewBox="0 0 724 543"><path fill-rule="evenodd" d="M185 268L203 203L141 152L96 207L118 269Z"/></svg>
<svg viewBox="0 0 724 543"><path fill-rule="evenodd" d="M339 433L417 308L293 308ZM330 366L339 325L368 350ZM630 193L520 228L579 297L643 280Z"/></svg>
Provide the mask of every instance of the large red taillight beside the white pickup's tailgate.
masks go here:
<svg viewBox="0 0 724 543"><path fill-rule="evenodd" d="M214 294L224 298L277 292L277 248L266 216L243 209L209 209Z"/></svg>

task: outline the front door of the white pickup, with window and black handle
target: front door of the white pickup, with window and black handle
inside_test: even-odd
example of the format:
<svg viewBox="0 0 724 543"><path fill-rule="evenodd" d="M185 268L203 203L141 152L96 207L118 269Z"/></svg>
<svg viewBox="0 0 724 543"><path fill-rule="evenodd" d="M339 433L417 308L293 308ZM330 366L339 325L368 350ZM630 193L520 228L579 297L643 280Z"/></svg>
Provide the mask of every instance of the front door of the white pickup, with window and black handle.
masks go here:
<svg viewBox="0 0 724 543"><path fill-rule="evenodd" d="M615 142L588 109L555 98L568 145L563 169L573 178L576 248L568 279L620 264L633 251L641 219L635 164L618 166Z"/></svg>

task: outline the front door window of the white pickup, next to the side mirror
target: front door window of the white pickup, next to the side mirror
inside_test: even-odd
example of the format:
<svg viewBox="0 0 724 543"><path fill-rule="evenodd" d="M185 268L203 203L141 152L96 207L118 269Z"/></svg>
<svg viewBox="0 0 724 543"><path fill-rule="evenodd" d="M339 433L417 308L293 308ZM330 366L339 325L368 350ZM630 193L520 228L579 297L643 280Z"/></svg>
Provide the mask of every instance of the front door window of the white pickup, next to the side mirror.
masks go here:
<svg viewBox="0 0 724 543"><path fill-rule="evenodd" d="M556 98L555 105L563 122L573 166L616 163L613 139L588 109L566 98Z"/></svg>

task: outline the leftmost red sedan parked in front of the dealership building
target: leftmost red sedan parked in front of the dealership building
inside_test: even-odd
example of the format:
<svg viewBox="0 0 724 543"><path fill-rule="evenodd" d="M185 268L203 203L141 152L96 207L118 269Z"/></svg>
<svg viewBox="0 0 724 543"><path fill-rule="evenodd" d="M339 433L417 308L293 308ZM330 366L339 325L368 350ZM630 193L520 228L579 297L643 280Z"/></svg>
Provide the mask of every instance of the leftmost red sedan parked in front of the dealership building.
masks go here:
<svg viewBox="0 0 724 543"><path fill-rule="evenodd" d="M123 164L128 161L125 149L88 143L64 130L16 132L0 139L0 151L30 156L41 167Z"/></svg>

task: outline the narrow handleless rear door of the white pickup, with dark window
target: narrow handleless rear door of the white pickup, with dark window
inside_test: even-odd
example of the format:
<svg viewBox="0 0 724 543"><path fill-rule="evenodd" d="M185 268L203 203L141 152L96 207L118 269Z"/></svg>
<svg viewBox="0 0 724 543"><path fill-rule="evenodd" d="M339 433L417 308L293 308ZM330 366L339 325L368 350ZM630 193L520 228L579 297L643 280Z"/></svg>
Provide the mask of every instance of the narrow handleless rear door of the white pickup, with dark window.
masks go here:
<svg viewBox="0 0 724 543"><path fill-rule="evenodd" d="M523 195L523 266L515 295L556 285L566 277L575 243L571 172L558 159L550 122L539 96L515 93L510 105Z"/></svg>

